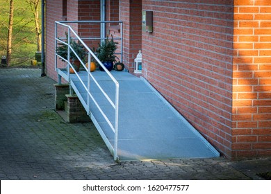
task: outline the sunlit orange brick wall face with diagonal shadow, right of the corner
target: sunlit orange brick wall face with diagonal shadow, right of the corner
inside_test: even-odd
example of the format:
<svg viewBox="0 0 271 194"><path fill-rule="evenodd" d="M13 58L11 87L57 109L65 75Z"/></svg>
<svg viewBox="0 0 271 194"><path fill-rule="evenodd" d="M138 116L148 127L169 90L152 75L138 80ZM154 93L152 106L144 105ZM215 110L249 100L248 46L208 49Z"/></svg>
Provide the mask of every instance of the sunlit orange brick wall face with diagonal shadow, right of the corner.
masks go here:
<svg viewBox="0 0 271 194"><path fill-rule="evenodd" d="M271 155L271 1L234 1L233 155Z"/></svg>

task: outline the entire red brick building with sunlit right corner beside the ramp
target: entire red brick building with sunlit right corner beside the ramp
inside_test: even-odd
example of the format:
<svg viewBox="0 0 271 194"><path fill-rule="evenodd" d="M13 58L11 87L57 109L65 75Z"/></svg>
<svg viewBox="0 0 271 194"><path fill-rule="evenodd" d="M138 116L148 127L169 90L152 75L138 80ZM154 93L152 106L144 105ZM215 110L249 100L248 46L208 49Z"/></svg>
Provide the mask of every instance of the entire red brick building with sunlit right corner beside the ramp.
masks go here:
<svg viewBox="0 0 271 194"><path fill-rule="evenodd" d="M46 10L46 73L56 79L54 21L100 20L100 1L47 0ZM142 76L223 155L271 156L271 1L107 0L106 20L124 22L126 68L142 50Z"/></svg>

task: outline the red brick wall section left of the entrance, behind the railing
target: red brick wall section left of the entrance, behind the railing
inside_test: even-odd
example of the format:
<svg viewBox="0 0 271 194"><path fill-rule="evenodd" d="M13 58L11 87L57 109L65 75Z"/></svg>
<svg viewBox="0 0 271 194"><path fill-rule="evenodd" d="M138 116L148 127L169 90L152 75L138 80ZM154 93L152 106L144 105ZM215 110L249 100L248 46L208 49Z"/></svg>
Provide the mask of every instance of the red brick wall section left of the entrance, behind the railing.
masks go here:
<svg viewBox="0 0 271 194"><path fill-rule="evenodd" d="M55 21L63 20L63 3L62 1L47 0L46 3L46 73L47 76L57 80L57 73L55 71ZM99 20L100 9L99 0L67 0L67 21L78 21L78 20ZM79 35L92 36L97 35L99 37L99 26L93 28L90 25L78 25L71 24L75 31L79 31ZM91 30L90 30L91 29ZM65 37L67 28L58 28L58 37ZM88 42L90 48L93 46L97 47L97 42ZM65 64L58 60L58 67L65 67Z"/></svg>

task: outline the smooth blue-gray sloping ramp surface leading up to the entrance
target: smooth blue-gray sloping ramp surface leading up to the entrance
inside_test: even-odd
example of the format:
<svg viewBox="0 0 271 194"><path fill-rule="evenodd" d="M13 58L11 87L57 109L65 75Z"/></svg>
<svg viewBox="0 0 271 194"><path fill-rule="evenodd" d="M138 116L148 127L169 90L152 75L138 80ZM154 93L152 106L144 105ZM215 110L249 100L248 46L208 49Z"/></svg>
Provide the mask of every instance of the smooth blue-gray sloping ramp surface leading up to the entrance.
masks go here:
<svg viewBox="0 0 271 194"><path fill-rule="evenodd" d="M142 159L178 159L219 157L219 153L143 78L126 72L111 71L120 84L118 151L120 161ZM79 75L87 85L87 74ZM115 84L103 71L92 73L115 102ZM77 95L86 104L82 83L71 74ZM114 125L115 112L92 81L91 94ZM90 101L90 112L112 145L114 133Z"/></svg>

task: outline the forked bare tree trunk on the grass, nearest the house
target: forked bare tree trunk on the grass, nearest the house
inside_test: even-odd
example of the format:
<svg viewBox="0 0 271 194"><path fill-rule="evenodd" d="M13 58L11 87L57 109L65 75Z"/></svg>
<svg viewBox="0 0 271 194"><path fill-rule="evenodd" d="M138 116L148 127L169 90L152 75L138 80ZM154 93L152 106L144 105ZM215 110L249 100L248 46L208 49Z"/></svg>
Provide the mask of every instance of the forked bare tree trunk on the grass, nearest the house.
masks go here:
<svg viewBox="0 0 271 194"><path fill-rule="evenodd" d="M35 34L36 34L37 45L38 45L37 51L41 51L42 50L42 33L40 29L40 20L39 20L40 0L26 0L26 2L31 7L31 11L35 19Z"/></svg>

